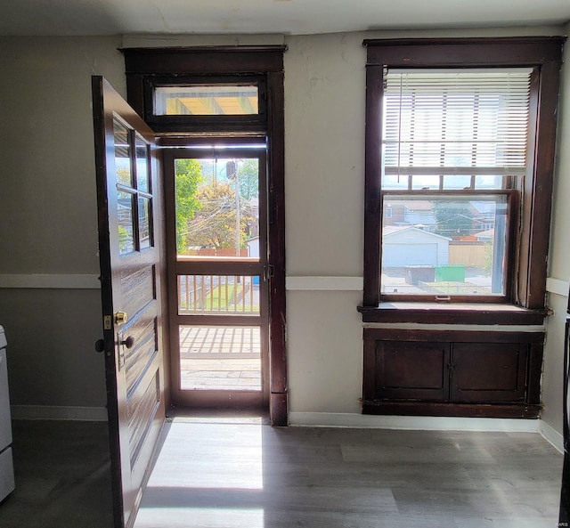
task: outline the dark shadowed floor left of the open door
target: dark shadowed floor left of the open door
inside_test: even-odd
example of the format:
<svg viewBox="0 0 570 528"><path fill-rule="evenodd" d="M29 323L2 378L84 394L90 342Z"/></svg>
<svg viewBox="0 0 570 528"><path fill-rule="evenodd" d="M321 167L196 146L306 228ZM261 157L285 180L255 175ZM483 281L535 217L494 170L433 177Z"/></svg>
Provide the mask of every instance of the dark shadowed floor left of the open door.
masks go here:
<svg viewBox="0 0 570 528"><path fill-rule="evenodd" d="M16 490L2 528L112 528L107 424L14 420Z"/></svg>

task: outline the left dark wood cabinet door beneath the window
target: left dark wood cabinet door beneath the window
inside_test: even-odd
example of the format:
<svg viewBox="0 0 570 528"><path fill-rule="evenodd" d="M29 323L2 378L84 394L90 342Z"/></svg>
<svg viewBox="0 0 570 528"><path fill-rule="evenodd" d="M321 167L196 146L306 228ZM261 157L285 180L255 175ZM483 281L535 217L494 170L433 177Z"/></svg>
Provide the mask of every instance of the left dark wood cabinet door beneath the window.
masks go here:
<svg viewBox="0 0 570 528"><path fill-rule="evenodd" d="M447 400L449 348L449 343L378 342L374 398Z"/></svg>

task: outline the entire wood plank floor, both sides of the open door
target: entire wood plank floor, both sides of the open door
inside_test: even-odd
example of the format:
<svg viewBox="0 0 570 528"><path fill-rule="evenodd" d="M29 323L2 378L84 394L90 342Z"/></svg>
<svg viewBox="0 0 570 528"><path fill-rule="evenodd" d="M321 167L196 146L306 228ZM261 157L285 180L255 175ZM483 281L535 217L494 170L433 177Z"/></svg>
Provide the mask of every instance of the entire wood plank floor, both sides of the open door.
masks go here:
<svg viewBox="0 0 570 528"><path fill-rule="evenodd" d="M234 415L235 416L235 415ZM112 528L107 427L14 423L2 528ZM272 428L174 418L135 528L554 528L562 456L540 435Z"/></svg>

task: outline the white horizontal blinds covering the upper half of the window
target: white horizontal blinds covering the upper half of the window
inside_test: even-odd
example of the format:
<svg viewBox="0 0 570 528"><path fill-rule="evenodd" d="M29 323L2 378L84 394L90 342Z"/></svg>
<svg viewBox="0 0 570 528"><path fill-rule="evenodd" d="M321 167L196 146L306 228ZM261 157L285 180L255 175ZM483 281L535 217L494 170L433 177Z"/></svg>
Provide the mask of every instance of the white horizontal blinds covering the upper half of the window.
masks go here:
<svg viewBox="0 0 570 528"><path fill-rule="evenodd" d="M532 69L387 71L385 175L524 175Z"/></svg>

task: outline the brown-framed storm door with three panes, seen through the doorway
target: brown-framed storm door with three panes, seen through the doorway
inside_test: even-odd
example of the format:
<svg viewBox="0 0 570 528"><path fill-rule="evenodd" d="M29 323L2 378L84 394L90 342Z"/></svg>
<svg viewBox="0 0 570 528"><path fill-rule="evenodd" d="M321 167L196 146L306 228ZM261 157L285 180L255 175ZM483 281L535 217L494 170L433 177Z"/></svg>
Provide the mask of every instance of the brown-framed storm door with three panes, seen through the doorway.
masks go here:
<svg viewBox="0 0 570 528"><path fill-rule="evenodd" d="M163 155L176 406L269 406L266 151L242 143Z"/></svg>

